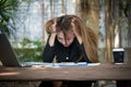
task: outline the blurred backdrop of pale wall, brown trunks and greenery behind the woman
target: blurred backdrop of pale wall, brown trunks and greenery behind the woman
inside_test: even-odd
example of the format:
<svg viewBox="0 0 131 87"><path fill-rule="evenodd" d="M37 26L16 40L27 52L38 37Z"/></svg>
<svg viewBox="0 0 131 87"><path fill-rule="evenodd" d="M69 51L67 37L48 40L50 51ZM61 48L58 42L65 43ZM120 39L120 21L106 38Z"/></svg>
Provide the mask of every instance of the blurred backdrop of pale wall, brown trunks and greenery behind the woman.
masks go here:
<svg viewBox="0 0 131 87"><path fill-rule="evenodd" d="M114 48L124 48L124 61L131 62L130 0L0 0L0 33L21 62L41 61L45 23L63 14L80 16L97 33L100 62L112 62Z"/></svg>

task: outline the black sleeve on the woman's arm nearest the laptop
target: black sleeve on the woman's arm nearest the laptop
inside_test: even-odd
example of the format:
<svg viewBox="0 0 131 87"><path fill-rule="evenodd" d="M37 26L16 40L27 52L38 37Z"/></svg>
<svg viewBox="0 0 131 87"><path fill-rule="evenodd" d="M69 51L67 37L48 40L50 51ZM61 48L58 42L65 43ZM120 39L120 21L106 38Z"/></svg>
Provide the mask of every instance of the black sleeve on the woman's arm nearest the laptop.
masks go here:
<svg viewBox="0 0 131 87"><path fill-rule="evenodd" d="M50 47L47 41L44 52L43 52L43 61L50 63L52 62L53 58L55 58L55 47Z"/></svg>

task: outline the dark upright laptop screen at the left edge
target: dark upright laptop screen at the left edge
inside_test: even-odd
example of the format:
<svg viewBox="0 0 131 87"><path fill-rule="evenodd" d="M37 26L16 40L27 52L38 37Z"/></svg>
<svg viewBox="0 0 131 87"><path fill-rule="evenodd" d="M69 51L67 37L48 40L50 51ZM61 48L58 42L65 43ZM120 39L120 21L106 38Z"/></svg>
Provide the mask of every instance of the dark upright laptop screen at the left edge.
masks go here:
<svg viewBox="0 0 131 87"><path fill-rule="evenodd" d="M5 34L0 34L0 61L3 66L21 66Z"/></svg>

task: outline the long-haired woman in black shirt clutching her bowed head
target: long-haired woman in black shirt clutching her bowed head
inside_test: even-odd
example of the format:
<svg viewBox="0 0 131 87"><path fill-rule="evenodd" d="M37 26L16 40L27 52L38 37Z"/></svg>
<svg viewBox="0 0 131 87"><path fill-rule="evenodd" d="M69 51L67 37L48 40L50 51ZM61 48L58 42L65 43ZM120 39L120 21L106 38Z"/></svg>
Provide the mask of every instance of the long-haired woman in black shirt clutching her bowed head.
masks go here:
<svg viewBox="0 0 131 87"><path fill-rule="evenodd" d="M43 53L44 62L52 62L55 58L56 62L98 62L96 35L76 15L52 18L47 22L46 30L49 38ZM68 82L68 87L91 85L92 82Z"/></svg>

